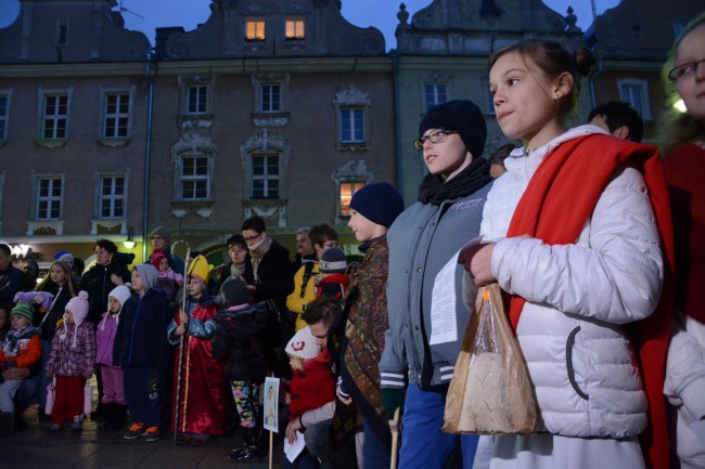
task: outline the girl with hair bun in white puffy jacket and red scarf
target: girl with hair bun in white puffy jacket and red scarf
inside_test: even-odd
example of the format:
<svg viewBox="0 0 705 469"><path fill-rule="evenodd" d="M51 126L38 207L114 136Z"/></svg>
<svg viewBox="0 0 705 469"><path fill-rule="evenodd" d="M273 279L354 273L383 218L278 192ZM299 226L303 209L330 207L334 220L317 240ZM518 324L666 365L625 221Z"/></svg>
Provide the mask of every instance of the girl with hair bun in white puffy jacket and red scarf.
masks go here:
<svg viewBox="0 0 705 469"><path fill-rule="evenodd" d="M668 467L668 194L655 147L594 126L566 131L592 64L586 49L540 40L490 58L497 120L524 147L487 197L490 243L465 266L512 296L541 417L538 434L493 438L491 468Z"/></svg>

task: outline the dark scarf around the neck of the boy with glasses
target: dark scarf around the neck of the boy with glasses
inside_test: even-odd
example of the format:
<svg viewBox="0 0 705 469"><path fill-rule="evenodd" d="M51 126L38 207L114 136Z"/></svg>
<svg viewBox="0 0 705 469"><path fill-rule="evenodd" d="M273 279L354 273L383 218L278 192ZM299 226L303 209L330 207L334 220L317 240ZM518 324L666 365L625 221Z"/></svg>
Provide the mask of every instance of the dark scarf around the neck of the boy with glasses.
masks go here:
<svg viewBox="0 0 705 469"><path fill-rule="evenodd" d="M487 185L492 178L489 175L489 165L485 158L476 158L458 173L446 181L440 174L428 173L419 186L419 201L422 204L440 205L475 193Z"/></svg>

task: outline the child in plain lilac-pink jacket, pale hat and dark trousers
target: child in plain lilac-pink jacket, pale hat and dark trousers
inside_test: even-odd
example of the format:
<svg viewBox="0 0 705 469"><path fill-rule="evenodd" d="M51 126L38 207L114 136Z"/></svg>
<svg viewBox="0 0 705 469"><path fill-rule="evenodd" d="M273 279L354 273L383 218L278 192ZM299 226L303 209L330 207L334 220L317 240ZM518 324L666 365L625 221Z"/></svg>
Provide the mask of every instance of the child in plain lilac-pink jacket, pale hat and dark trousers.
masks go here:
<svg viewBox="0 0 705 469"><path fill-rule="evenodd" d="M101 376L103 377L103 398L101 402L105 413L105 419L99 426L101 429L121 429L125 426L125 416L127 415L123 367L113 365L113 346L123 304L132 296L128 286L129 284L117 286L108 294L107 311L103 313L102 320L95 329L95 343L98 347L95 364L100 366Z"/></svg>

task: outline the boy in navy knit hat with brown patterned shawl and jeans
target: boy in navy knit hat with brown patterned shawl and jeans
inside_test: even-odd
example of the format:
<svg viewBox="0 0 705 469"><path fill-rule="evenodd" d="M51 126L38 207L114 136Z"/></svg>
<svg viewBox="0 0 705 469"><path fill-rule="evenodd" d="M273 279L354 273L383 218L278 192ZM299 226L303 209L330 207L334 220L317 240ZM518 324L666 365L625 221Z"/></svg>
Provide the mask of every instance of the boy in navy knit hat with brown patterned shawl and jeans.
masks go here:
<svg viewBox="0 0 705 469"><path fill-rule="evenodd" d="M389 417L382 406L377 364L384 350L384 331L388 327L387 230L402 211L401 195L386 182L363 186L350 200L348 226L362 243L359 249L364 252L364 258L350 274L346 302L347 342L342 351L336 394L344 404L355 402L362 417L366 467L388 467L390 459Z"/></svg>

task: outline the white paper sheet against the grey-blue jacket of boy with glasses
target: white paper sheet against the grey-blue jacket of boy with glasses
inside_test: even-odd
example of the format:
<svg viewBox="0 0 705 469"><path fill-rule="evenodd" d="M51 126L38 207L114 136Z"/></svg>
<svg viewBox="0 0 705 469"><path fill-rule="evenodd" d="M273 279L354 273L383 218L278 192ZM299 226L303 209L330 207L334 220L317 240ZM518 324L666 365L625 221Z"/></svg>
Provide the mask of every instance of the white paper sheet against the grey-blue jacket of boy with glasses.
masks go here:
<svg viewBox="0 0 705 469"><path fill-rule="evenodd" d="M444 265L436 275L431 294L431 340L428 343L454 342L458 340L458 322L456 321L456 269L458 255Z"/></svg>

